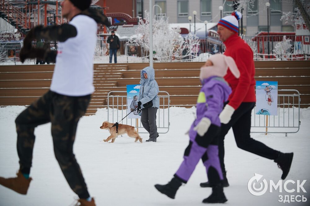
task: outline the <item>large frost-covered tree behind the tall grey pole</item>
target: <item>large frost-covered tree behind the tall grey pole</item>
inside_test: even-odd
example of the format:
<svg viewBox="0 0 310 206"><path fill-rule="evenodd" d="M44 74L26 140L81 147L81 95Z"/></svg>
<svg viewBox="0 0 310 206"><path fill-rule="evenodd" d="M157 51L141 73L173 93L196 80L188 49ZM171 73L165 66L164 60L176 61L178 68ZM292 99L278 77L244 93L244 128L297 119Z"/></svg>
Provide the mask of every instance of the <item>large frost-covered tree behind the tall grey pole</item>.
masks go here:
<svg viewBox="0 0 310 206"><path fill-rule="evenodd" d="M144 56L149 54L149 12L145 11L145 19L139 19L135 36L129 42L135 42L143 49ZM198 37L189 34L180 36L180 28L170 28L168 18L164 15L153 16L153 58L158 61L177 61L190 56L193 48L199 45Z"/></svg>

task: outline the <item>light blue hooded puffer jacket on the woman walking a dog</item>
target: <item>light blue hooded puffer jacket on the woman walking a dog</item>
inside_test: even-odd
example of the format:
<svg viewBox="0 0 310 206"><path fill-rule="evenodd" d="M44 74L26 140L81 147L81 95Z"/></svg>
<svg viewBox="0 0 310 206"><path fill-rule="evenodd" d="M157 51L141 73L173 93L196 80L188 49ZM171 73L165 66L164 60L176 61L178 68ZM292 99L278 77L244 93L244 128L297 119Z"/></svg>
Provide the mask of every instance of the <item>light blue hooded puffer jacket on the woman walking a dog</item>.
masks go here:
<svg viewBox="0 0 310 206"><path fill-rule="evenodd" d="M148 74L148 79L144 79L143 71L146 71ZM153 67L145 67L141 70L140 84L141 87L137 101L141 101L141 108L144 108L143 105L151 100L153 102L153 107L159 108L159 97L157 96L159 88L155 80L155 71Z"/></svg>

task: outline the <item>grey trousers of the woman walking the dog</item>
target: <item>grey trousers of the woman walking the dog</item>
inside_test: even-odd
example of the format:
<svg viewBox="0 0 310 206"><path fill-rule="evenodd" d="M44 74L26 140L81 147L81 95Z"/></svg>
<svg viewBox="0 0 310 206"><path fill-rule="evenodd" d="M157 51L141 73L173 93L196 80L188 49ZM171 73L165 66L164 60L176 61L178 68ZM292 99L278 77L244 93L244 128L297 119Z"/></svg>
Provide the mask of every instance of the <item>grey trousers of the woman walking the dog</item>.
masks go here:
<svg viewBox="0 0 310 206"><path fill-rule="evenodd" d="M157 126L156 126L156 113L157 113L157 107L151 107L148 109L142 109L141 112L141 122L150 134L150 138L152 138L154 141L156 141L157 138Z"/></svg>

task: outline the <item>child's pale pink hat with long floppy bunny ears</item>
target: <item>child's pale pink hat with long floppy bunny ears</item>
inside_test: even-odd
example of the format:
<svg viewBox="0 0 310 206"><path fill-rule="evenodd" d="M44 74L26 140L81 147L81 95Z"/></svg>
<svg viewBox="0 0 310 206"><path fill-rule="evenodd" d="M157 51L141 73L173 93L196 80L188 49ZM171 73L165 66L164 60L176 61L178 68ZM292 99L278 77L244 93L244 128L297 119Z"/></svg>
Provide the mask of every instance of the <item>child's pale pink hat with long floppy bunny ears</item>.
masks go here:
<svg viewBox="0 0 310 206"><path fill-rule="evenodd" d="M228 67L236 78L240 77L240 71L232 57L225 56L224 54L214 54L208 60L213 63L213 66L201 67L199 79L206 79L210 76L224 77Z"/></svg>

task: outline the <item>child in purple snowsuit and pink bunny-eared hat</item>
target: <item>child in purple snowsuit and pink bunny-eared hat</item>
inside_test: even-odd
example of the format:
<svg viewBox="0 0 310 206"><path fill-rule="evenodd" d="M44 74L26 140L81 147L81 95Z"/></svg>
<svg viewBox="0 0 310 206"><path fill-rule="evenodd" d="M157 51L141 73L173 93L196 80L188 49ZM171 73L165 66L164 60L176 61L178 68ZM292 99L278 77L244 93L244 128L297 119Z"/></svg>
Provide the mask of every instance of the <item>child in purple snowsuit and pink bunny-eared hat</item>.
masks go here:
<svg viewBox="0 0 310 206"><path fill-rule="evenodd" d="M240 72L235 61L223 54L212 55L205 66L200 69L202 88L197 99L197 118L189 130L189 144L184 152L184 161L174 174L174 178L166 185L155 185L156 189L174 199L176 191L183 183L187 183L198 161L202 159L206 167L208 180L212 185L212 194L203 203L224 203L227 201L221 181L223 173L219 163L218 143L215 138L220 131L219 114L224 102L232 92L223 79L230 69L239 78Z"/></svg>

